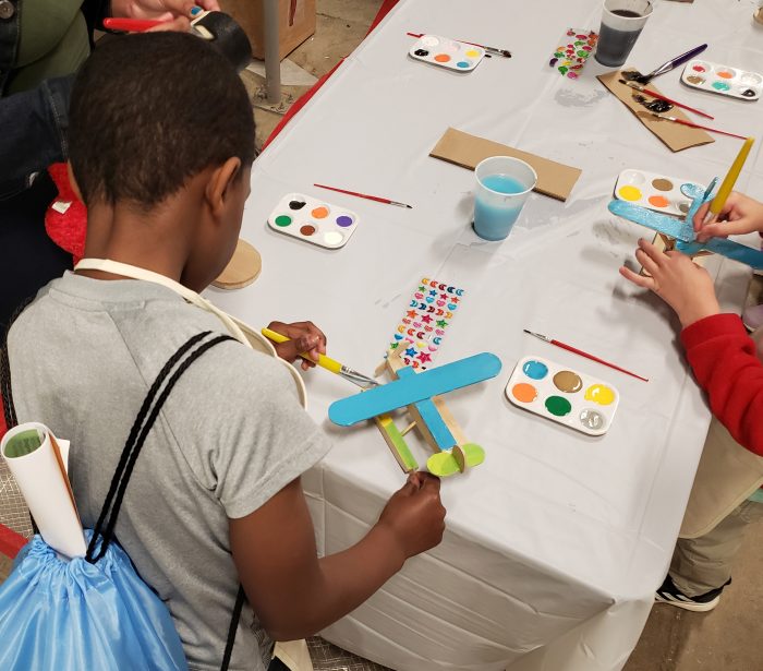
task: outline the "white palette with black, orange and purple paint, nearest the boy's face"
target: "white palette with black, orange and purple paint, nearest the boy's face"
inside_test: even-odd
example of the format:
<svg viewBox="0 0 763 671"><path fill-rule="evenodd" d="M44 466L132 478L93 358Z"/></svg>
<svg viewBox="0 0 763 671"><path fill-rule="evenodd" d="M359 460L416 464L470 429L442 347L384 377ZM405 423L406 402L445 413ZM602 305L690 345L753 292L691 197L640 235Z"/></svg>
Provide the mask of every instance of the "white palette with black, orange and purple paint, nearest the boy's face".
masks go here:
<svg viewBox="0 0 763 671"><path fill-rule="evenodd" d="M355 232L358 215L303 193L288 193L270 213L267 225L279 233L339 249Z"/></svg>

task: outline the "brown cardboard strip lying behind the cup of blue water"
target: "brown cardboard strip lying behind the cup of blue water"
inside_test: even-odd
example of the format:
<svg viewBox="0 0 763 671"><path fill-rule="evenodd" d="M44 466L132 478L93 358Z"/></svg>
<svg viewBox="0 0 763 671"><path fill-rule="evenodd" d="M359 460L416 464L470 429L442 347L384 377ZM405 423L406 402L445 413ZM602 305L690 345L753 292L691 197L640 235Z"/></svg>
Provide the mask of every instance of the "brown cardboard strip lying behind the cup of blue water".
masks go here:
<svg viewBox="0 0 763 671"><path fill-rule="evenodd" d="M491 156L511 156L530 164L537 172L537 183L533 191L550 195L560 201L566 201L572 187L578 181L582 170L572 168L548 158L529 154L520 149L485 140L476 135L470 135L463 131L449 128L439 139L429 156L453 163L462 168L473 170L477 164Z"/></svg>

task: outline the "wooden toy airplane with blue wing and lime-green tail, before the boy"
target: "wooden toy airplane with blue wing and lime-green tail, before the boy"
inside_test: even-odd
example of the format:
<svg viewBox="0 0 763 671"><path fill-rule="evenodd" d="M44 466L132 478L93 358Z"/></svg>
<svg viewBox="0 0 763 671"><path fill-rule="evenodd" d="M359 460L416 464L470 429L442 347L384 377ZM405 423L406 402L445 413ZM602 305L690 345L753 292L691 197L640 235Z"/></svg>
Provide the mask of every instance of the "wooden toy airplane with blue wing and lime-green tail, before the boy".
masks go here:
<svg viewBox="0 0 763 671"><path fill-rule="evenodd" d="M398 351L392 350L386 367L396 380L331 404L328 417L335 424L349 427L374 418L404 472L419 468L404 441L405 433L414 427L435 451L426 466L436 476L463 472L485 460L484 450L467 442L438 394L495 378L501 367L498 357L483 352L416 373L404 367ZM413 422L399 431L389 412L402 407L408 408Z"/></svg>

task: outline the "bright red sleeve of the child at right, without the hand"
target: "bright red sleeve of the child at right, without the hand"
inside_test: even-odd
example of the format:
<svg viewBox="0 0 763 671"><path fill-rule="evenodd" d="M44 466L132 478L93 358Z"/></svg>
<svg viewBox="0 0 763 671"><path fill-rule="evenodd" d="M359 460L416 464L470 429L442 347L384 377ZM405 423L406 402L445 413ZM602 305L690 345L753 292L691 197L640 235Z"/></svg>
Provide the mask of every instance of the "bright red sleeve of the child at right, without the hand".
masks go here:
<svg viewBox="0 0 763 671"><path fill-rule="evenodd" d="M715 314L681 332L710 407L742 446L763 456L763 363L736 314Z"/></svg>

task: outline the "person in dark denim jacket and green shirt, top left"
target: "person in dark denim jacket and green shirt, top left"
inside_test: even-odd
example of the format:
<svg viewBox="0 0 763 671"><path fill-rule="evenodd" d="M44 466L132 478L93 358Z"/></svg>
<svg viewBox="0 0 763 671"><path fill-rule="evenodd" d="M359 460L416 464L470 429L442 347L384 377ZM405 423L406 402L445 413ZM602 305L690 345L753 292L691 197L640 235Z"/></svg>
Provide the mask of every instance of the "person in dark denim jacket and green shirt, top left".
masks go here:
<svg viewBox="0 0 763 671"><path fill-rule="evenodd" d="M46 172L68 157L73 73L106 16L167 21L187 31L191 9L217 0L0 0L0 334L11 315L72 257L45 230L57 195Z"/></svg>

